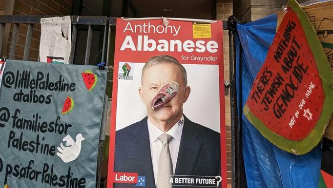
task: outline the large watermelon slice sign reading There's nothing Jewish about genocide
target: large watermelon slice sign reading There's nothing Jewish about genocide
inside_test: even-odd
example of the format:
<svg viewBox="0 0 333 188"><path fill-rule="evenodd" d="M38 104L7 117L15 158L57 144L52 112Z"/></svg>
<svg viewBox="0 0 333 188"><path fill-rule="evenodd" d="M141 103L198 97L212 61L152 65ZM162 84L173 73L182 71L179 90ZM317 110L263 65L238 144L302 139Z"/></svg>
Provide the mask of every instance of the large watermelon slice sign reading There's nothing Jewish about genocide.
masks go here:
<svg viewBox="0 0 333 188"><path fill-rule="evenodd" d="M298 3L289 0L244 115L273 144L305 154L318 145L333 112L332 81L315 30Z"/></svg>

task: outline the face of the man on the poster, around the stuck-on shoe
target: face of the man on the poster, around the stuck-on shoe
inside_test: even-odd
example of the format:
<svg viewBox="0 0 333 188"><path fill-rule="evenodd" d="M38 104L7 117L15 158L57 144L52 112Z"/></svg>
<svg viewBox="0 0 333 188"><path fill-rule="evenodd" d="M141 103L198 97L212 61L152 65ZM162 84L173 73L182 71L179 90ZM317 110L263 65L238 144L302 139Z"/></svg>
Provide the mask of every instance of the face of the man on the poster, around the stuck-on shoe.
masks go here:
<svg viewBox="0 0 333 188"><path fill-rule="evenodd" d="M179 84L178 93L165 105L153 110L152 100L160 89L171 81ZM148 117L158 121L177 121L183 112L183 103L190 95L190 87L183 82L183 74L180 68L171 63L152 65L145 70L142 78L142 86L139 93L142 102L147 107Z"/></svg>

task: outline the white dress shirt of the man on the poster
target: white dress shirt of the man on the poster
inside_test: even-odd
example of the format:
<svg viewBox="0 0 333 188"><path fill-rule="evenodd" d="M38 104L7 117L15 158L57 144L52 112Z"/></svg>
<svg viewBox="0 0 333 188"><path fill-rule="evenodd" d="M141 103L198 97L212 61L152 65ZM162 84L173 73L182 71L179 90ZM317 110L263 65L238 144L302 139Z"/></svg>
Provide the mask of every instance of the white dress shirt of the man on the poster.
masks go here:
<svg viewBox="0 0 333 188"><path fill-rule="evenodd" d="M152 162L153 162L154 179L156 184L158 161L162 150L162 143L161 141L158 140L158 137L162 135L164 132L159 128L157 128L149 119L147 120L147 124L149 131L150 152L152 155ZM169 150L170 150L174 174L176 170L180 139L181 139L181 134L183 132L183 127L184 127L184 117L181 116L180 120L173 127L171 127L170 130L166 132L166 134L169 134L173 137L173 139L169 143Z"/></svg>

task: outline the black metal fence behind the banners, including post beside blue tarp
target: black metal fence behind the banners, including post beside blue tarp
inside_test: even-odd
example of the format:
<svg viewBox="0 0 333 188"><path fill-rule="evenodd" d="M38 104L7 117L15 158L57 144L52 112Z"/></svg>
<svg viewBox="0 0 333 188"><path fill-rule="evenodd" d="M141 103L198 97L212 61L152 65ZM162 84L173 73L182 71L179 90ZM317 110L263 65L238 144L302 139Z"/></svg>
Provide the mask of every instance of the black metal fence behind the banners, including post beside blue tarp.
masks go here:
<svg viewBox="0 0 333 188"><path fill-rule="evenodd" d="M31 40L33 27L40 24L40 18L53 17L53 16L23 16L23 15L0 15L0 52L2 51L2 46L4 42L4 33L6 24L12 24L12 37L10 42L9 51L0 54L0 57L5 57L8 55L8 59L15 59L16 45L19 40L19 25L27 24L28 29L26 33L26 41L24 45L24 54L23 60L27 61L29 59ZM237 22L237 21L236 21ZM91 45L92 45L92 33L94 26L103 27L102 31L102 45L101 49L101 59L100 62L105 62L106 66L109 68L109 73L112 74L113 63L109 65L110 57L113 57L113 46L111 46L112 37L112 27L116 26L116 17L106 17L106 16L71 16L72 23L72 48L70 52L69 63L73 64L75 59L75 50L77 47L77 31L78 27L88 26L88 35L85 51L85 65L89 65L89 59L91 54ZM236 101L236 88L235 88L235 54L234 54L234 40L235 40L235 29L236 23L233 23L233 17L231 16L228 21L223 21L223 30L229 31L229 47L230 47L230 80L231 80L231 92L230 92L230 101L231 101L231 126L232 126L232 186L233 187L242 187L244 185L244 173L242 166L242 154L241 154L241 126L237 121L237 108L240 106L237 105ZM112 78L108 76L108 78ZM108 83L112 83L112 80L108 80ZM109 84L108 84L109 85ZM228 85L228 84L227 84ZM226 87L226 90L228 87ZM111 93L111 91L110 91ZM106 105L107 106L107 105ZM103 113L103 123L106 123L106 112L105 108ZM105 130L101 130L101 135L105 134ZM103 145L104 140L101 139L99 142L98 148L98 165L97 165L97 179L96 187L100 186L100 170L101 170L101 159L103 155ZM246 184L246 183L245 183Z"/></svg>

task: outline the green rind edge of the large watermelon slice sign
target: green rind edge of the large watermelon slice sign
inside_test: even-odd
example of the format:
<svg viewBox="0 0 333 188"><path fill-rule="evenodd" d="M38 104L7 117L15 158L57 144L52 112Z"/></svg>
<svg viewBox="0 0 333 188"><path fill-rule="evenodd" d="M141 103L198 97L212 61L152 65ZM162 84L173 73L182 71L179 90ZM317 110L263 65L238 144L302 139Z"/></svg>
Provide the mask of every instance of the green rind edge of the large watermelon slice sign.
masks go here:
<svg viewBox="0 0 333 188"><path fill-rule="evenodd" d="M288 6L293 9L293 11L298 16L303 29L306 35L306 39L308 41L311 51L314 54L314 58L316 60L316 64L319 70L320 78L323 83L324 90L324 105L322 108L322 114L315 126L315 128L310 132L310 134L301 141L292 141L288 140L282 136L277 135L270 129L266 127L254 114L249 110L248 106L245 104L243 111L244 115L247 119L260 131L260 133L268 139L270 142L278 146L279 148L287 151L289 153L293 153L295 155L306 154L311 151L318 143L320 142L322 136L324 135L325 127L327 126L329 119L333 112L333 89L329 83L333 80L332 74L330 71L330 67L328 66L328 62L323 51L322 46L320 45L320 41L318 36L313 29L310 21L306 17L305 13L299 6L299 4L295 0L289 0ZM324 62L322 64L318 64L318 62ZM328 81L326 82L325 79Z"/></svg>

